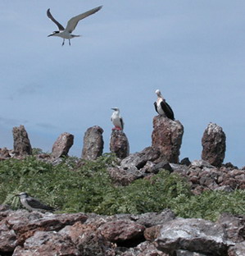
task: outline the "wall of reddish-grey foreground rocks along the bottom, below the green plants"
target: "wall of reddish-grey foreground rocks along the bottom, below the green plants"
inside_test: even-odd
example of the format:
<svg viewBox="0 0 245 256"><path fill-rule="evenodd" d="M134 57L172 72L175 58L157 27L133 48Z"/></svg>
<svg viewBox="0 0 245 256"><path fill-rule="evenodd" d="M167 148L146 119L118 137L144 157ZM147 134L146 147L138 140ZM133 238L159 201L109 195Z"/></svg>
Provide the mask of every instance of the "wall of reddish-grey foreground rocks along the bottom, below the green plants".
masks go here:
<svg viewBox="0 0 245 256"><path fill-rule="evenodd" d="M218 222L161 213L52 214L0 205L1 255L234 256L244 254L244 216Z"/></svg>

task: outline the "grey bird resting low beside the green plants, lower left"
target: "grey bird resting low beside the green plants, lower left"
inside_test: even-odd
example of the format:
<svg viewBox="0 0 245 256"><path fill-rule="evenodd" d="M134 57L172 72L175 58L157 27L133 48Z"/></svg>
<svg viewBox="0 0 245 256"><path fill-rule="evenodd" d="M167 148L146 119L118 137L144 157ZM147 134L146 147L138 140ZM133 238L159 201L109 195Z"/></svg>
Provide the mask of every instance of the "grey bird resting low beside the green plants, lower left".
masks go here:
<svg viewBox="0 0 245 256"><path fill-rule="evenodd" d="M20 203L27 208L29 211L39 211L39 212L54 212L55 208L45 205L39 200L34 199L33 197L29 196L29 194L25 192L21 192L20 194L16 194L16 196L20 197Z"/></svg>

